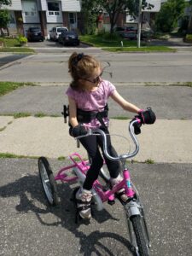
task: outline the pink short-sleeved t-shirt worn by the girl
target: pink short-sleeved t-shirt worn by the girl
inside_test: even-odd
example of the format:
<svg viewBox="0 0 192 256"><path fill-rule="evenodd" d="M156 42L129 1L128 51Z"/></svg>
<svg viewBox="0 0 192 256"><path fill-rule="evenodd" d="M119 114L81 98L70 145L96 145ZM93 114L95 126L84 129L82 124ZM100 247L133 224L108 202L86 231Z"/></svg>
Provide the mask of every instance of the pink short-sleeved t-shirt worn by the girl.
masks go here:
<svg viewBox="0 0 192 256"><path fill-rule="evenodd" d="M108 97L113 95L114 90L116 89L112 83L102 80L95 91L79 91L69 87L66 94L76 102L77 108L84 111L101 112L108 103ZM104 118L103 121L108 126L108 118ZM89 125L98 127L101 124L97 119L92 119Z"/></svg>

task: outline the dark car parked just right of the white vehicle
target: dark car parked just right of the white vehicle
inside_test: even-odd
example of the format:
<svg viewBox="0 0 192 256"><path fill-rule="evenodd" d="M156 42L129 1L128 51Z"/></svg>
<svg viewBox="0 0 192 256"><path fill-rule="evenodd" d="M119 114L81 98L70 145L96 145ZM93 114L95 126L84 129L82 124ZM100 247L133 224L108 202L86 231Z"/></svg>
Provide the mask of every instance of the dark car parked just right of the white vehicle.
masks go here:
<svg viewBox="0 0 192 256"><path fill-rule="evenodd" d="M79 45L79 37L76 32L61 32L61 35L58 38L58 42L63 45L72 44L72 45Z"/></svg>

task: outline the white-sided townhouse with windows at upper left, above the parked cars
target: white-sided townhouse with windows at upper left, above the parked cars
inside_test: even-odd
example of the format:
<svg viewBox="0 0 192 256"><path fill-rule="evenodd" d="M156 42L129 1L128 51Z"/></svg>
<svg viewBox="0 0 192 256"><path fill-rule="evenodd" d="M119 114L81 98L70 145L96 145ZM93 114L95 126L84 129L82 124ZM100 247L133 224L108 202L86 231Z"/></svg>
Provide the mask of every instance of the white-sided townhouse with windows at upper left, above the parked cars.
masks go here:
<svg viewBox="0 0 192 256"><path fill-rule="evenodd" d="M30 26L38 26L46 37L53 26L67 26L70 30L78 28L80 0L12 0L9 9L10 33L26 34Z"/></svg>

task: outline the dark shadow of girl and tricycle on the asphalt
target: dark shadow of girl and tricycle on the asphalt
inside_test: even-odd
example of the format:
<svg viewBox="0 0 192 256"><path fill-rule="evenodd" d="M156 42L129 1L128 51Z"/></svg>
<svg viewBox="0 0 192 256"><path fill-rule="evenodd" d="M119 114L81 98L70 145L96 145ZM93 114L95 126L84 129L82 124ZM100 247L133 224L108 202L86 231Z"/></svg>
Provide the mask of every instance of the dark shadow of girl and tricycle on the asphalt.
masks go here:
<svg viewBox="0 0 192 256"><path fill-rule="evenodd" d="M15 182L3 185L0 187L0 196L3 198L17 196L20 198L19 204L15 206L17 212L25 212L28 214L34 212L40 224L55 227L61 226L72 232L76 238L79 238L80 253L84 253L84 256L91 255L91 253L96 253L96 255L116 256L121 253L120 250L122 246L126 247L128 251L134 255L130 241L126 240L123 236L119 236L119 234L94 230L89 236L86 236L84 232L79 231L79 225L87 225L87 223L82 221L79 222L79 224L75 224L75 208L69 196L72 195L73 189L70 188L68 183L57 185L61 197L61 203L57 207L49 207L46 204L44 196L42 196L44 192L40 184L40 179L36 175L27 175L15 180ZM31 199L28 198L28 195L30 195ZM68 196L64 198L64 196L61 195ZM49 216L49 212L56 216L56 219L58 219L56 222L51 222L49 217L44 217L46 214ZM100 224L108 219L114 219L105 209L102 210L102 212L96 212L96 217L94 218L96 222ZM47 222L45 220L47 220ZM108 244L103 243L103 239L112 240L113 246L110 247ZM62 246L67 246L67 244L64 244L62 241Z"/></svg>

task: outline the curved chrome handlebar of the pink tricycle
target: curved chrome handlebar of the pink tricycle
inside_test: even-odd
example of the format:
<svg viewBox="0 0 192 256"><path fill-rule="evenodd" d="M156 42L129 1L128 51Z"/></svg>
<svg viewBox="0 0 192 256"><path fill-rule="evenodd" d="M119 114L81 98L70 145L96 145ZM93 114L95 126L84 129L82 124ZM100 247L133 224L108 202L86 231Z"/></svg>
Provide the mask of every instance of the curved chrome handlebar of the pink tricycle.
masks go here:
<svg viewBox="0 0 192 256"><path fill-rule="evenodd" d="M139 122L140 122L140 119L135 119L135 120L131 121L131 123L129 125L129 133L131 135L131 139L132 139L133 143L135 144L135 149L130 154L120 154L119 156L115 156L115 157L108 154L107 134L99 128L90 129L90 130L88 130L86 135L76 137L76 139L79 139L82 137L88 137L90 135L98 135L98 133L99 133L99 135L101 135L102 139L103 139L103 151L104 151L104 154L106 155L106 157L109 160L125 160L125 159L135 156L139 151L139 144L137 141L137 137L135 136L134 127L133 127L133 125L135 123L139 123Z"/></svg>

